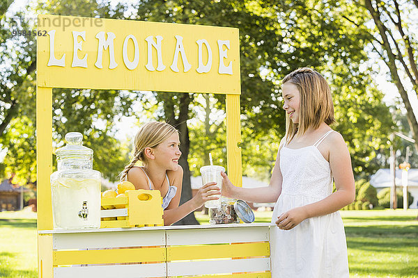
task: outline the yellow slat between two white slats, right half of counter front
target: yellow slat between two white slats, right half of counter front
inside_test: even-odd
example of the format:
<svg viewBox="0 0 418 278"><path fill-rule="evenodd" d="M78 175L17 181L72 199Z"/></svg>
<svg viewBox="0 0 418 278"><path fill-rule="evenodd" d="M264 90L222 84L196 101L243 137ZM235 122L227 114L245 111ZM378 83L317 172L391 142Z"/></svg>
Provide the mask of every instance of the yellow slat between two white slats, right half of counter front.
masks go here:
<svg viewBox="0 0 418 278"><path fill-rule="evenodd" d="M167 247L167 261L270 256L269 243Z"/></svg>

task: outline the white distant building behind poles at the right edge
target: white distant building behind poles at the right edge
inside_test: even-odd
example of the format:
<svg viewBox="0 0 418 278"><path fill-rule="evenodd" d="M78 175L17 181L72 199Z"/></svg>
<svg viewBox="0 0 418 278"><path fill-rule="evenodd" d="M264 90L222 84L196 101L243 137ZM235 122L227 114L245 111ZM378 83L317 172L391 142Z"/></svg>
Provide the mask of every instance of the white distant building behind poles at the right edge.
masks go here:
<svg viewBox="0 0 418 278"><path fill-rule="evenodd" d="M403 190L402 187L402 170L396 169L395 173L396 189ZM392 176L390 169L380 169L376 174L373 174L370 179L370 184L380 191L383 188L392 186ZM414 202L409 208L418 208L418 169L408 170L408 191L414 197Z"/></svg>

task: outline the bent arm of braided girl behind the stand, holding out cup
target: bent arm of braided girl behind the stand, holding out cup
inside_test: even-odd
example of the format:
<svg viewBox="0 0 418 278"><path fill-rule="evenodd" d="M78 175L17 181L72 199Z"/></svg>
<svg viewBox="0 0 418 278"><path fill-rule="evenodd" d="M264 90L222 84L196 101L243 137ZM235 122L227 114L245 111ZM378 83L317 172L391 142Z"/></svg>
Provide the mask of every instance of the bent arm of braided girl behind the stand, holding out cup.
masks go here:
<svg viewBox="0 0 418 278"><path fill-rule="evenodd" d="M164 225L166 226L184 218L189 213L192 213L197 208L200 208L206 201L218 199L218 197L212 195L220 194L219 187L216 183L206 183L199 189L196 196L185 202L185 204L178 206L180 204L181 188L183 183L183 168L178 165L178 170L170 175L170 180L172 179L171 177L173 177L173 186L177 187L177 192L176 196L171 199L169 206L165 209L164 215L162 216L164 219ZM209 190L212 191L208 192Z"/></svg>

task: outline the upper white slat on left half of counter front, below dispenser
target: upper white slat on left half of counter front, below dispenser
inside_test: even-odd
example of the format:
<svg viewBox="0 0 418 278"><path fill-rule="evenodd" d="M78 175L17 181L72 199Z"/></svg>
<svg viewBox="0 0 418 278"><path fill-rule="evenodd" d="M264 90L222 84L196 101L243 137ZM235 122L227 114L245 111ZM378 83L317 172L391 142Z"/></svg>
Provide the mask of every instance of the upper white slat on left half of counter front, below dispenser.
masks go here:
<svg viewBox="0 0 418 278"><path fill-rule="evenodd" d="M165 231L114 231L83 234L54 234L54 250L104 247L161 246Z"/></svg>

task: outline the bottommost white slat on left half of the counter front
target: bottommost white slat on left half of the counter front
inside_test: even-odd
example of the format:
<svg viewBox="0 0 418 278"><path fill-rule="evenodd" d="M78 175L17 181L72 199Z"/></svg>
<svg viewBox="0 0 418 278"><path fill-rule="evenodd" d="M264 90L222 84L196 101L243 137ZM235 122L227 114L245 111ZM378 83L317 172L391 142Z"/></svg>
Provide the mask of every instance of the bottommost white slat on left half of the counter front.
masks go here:
<svg viewBox="0 0 418 278"><path fill-rule="evenodd" d="M165 263L148 263L137 265L72 266L54 268L54 278L144 278L166 276L167 265Z"/></svg>

